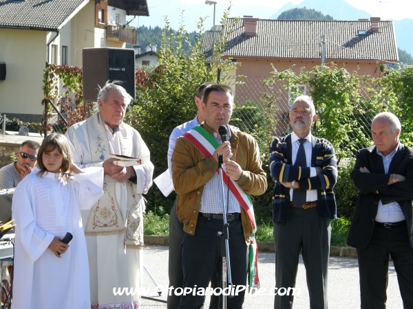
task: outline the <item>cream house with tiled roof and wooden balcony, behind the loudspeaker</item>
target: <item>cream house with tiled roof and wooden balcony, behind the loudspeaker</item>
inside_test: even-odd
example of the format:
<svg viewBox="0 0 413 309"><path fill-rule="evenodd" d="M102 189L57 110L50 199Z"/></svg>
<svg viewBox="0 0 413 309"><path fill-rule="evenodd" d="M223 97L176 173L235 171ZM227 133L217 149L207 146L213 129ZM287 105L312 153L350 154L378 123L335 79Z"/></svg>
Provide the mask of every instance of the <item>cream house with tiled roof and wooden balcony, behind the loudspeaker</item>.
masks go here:
<svg viewBox="0 0 413 309"><path fill-rule="evenodd" d="M0 113L39 122L47 62L82 67L83 48L136 44L127 15L149 16L147 0L0 0L0 62L7 72Z"/></svg>

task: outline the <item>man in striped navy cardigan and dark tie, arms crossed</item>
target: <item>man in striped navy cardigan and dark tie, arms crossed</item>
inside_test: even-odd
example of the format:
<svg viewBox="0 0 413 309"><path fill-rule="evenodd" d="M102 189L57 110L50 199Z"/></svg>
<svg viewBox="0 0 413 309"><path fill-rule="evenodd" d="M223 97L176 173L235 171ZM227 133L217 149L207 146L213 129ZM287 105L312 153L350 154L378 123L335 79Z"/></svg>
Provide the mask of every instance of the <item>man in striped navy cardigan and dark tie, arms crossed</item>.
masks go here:
<svg viewBox="0 0 413 309"><path fill-rule="evenodd" d="M330 142L311 134L316 119L313 100L299 96L290 108L293 133L274 139L270 148L271 176L276 182L275 287L295 287L302 251L310 308L326 309L330 219L337 213L332 192L337 182L337 160ZM277 294L274 308L293 308L293 300L291 293Z"/></svg>

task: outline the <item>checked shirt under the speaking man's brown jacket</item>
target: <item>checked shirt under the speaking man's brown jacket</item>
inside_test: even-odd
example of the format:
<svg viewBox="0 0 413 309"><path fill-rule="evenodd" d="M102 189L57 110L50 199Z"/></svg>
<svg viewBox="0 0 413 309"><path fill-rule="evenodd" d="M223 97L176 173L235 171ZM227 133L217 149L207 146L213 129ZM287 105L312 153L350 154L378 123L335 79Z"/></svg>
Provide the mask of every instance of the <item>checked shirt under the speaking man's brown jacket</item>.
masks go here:
<svg viewBox="0 0 413 309"><path fill-rule="evenodd" d="M213 137L219 144L222 141L218 139L218 134L213 133ZM228 130L228 140L231 140L231 131ZM230 182L230 185L232 183ZM224 184L224 199L225 205L229 214L235 212L241 212L240 203L235 198L234 194L229 191L229 187ZM202 192L200 212L207 214L222 214L222 196L221 196L221 177L218 173L215 173L211 179L204 185L204 191Z"/></svg>

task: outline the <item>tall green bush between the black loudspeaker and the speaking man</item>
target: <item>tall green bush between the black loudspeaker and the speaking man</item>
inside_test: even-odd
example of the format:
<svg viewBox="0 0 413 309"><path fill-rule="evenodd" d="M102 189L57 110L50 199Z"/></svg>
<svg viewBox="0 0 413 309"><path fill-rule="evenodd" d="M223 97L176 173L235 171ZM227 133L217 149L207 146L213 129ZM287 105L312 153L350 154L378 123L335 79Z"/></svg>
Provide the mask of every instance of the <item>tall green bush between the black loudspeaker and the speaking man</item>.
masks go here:
<svg viewBox="0 0 413 309"><path fill-rule="evenodd" d="M198 38L204 31L203 23L204 19L200 19ZM184 43L191 47L189 54L184 50ZM178 32L171 32L169 21L165 18L158 67L147 74L137 73L137 77L145 78L140 78L142 82L136 89L136 102L129 108L127 122L140 132L151 151L154 177L168 168L167 150L173 128L197 114L193 98L198 87L207 81L216 82L218 67L225 70L226 62L208 65L201 47L201 40L192 45L182 23ZM174 198L175 194L165 198L156 186L147 194L149 207L156 208L158 214L169 212Z"/></svg>

